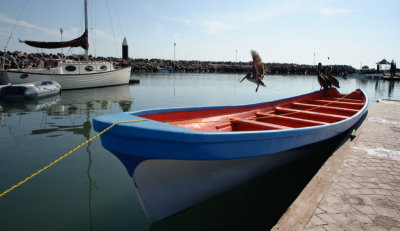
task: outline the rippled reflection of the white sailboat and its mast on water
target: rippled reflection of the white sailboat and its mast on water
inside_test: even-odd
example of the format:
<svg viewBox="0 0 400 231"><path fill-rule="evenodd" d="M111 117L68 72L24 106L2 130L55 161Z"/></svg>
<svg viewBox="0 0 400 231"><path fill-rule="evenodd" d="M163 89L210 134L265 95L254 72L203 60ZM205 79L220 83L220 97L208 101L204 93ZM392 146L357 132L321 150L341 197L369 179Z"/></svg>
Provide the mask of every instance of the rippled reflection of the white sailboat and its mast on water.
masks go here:
<svg viewBox="0 0 400 231"><path fill-rule="evenodd" d="M46 98L48 99L48 98ZM26 103L25 103L26 104ZM20 107L25 107L24 103L18 104ZM36 129L31 129L31 135L34 136L47 136L47 137L59 137L66 133L74 134L74 136L84 137L84 140L90 139L90 133L92 131L91 115L97 113L100 110L117 110L126 111L132 107L132 100L130 94L129 85L111 86L106 88L97 89L83 89L83 90L70 90L64 91L60 95L57 95L57 101L52 105L43 105L38 111L43 112L43 116L52 116L60 119L60 122L54 122L54 120L47 123L44 119L45 124ZM6 108L6 110L9 110ZM24 109L17 109L17 112L23 112ZM0 119L1 119L0 110ZM101 112L100 112L101 113ZM104 113L104 112L103 112ZM69 121L73 115L74 120ZM67 120L65 123L64 120ZM1 121L0 121L1 122ZM59 138L60 139L60 138ZM61 138L64 140L64 138ZM86 182L87 186L87 203L85 205L88 208L88 225L90 230L94 229L94 193L96 188L95 176L92 174L93 166L95 163L95 153L93 152L93 144L89 142L86 148L81 148L82 154L87 155L87 170L86 170Z"/></svg>

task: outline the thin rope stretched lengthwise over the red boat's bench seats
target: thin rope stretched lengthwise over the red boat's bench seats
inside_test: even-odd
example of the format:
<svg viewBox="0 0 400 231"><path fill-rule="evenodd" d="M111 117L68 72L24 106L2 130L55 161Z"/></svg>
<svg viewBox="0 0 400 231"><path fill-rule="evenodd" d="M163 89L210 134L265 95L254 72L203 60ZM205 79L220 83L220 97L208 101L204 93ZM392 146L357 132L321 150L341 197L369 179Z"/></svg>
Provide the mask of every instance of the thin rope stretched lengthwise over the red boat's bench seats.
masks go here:
<svg viewBox="0 0 400 231"><path fill-rule="evenodd" d="M326 104L322 104L322 105L317 105L315 107L312 108L308 108L308 109L304 109L304 110L299 110L299 111L294 111L294 112L288 112L288 113L283 113L283 114L271 114L271 115L266 115L266 116L250 116L244 119L229 119L229 120L209 120L209 121L175 121L175 122L167 122L168 124L171 125L177 125L177 124L194 124L194 123L221 123L221 122L225 122L225 123L230 123L230 122L235 122L235 121L242 121L242 120L257 120L257 119L267 119L267 118L273 118L273 117L279 117L279 116L288 116L288 115L294 115L300 112L305 112L305 111L312 111L321 107L326 107L329 106L331 104L334 104L336 102L339 102L340 100L345 99L347 96L349 96L351 93L344 95L341 98L336 99L335 101L326 103Z"/></svg>

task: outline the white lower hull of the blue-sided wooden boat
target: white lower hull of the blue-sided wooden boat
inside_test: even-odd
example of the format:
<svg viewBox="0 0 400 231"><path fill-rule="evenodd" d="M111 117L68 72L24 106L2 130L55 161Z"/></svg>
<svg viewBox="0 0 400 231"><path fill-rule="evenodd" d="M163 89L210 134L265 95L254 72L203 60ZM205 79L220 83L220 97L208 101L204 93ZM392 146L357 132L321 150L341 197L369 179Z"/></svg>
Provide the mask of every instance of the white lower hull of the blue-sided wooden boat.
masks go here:
<svg viewBox="0 0 400 231"><path fill-rule="evenodd" d="M133 181L142 208L158 221L300 158L292 150L233 160L151 159L141 162Z"/></svg>

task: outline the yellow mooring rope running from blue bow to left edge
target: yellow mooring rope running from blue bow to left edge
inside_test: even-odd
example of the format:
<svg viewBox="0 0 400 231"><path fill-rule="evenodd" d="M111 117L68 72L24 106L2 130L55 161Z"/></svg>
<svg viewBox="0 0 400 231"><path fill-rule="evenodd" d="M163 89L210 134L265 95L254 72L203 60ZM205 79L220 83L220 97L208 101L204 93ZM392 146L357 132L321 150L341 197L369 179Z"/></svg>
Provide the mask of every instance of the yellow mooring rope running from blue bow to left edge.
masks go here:
<svg viewBox="0 0 400 231"><path fill-rule="evenodd" d="M110 125L109 127L107 127L106 129L104 129L103 131L99 132L97 135L93 136L92 138L86 140L85 142L81 143L80 145L76 146L74 149L72 149L71 151L69 151L68 153L62 155L60 158L56 159L55 161L51 162L50 164L46 165L45 167L39 169L38 171L36 171L35 173L33 173L32 175L28 176L27 178L25 178L24 180L20 181L18 184L10 187L9 189L5 190L4 192L2 192L0 194L0 197L3 197L4 195L6 195L7 193L11 192L12 190L14 190L15 188L21 186L22 184L26 183L28 180L32 179L33 177L39 175L40 173L42 173L43 171L45 171L46 169L50 168L51 166L53 166L54 164L56 164L57 162L59 162L60 160L64 159L65 157L71 155L71 153L75 152L76 150L78 150L79 148L81 148L82 146L84 146L85 144L89 143L90 141L96 139L97 137L99 137L101 134L103 134L104 132L110 130L112 127L114 127L117 124L122 124L122 123L133 123L133 122L141 122L141 121L145 121L144 119L140 119L140 120L125 120L125 121L118 121L112 125Z"/></svg>

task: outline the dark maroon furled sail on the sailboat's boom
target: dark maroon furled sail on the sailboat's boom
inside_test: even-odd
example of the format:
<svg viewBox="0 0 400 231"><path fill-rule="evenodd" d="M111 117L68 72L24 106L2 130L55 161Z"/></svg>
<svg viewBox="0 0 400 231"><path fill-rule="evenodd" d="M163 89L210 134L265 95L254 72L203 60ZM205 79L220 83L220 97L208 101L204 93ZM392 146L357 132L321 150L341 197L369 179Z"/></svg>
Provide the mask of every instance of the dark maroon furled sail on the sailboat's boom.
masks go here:
<svg viewBox="0 0 400 231"><path fill-rule="evenodd" d="M89 49L87 30L85 30L85 33L83 33L81 37L65 42L37 42L37 41L22 41L22 42L26 43L29 46L38 48L55 49L63 47L82 47L85 50Z"/></svg>

